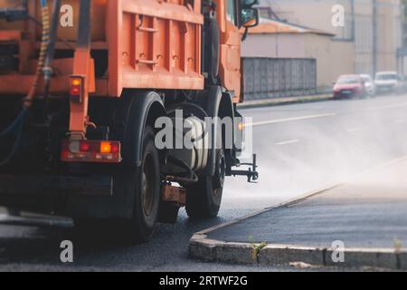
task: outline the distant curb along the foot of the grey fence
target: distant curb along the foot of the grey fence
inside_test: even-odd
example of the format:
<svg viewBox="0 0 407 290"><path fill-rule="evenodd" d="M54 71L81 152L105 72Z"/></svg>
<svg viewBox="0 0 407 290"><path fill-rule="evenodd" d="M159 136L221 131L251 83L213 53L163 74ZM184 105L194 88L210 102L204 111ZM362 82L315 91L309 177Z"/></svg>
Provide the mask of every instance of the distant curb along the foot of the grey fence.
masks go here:
<svg viewBox="0 0 407 290"><path fill-rule="evenodd" d="M268 100L259 101L248 101L238 104L240 109L251 109L251 108L261 108L270 106L282 106L295 103L305 103L305 102L326 102L334 100L332 94L321 94L314 96L302 96L302 97L288 97L288 98L276 98Z"/></svg>

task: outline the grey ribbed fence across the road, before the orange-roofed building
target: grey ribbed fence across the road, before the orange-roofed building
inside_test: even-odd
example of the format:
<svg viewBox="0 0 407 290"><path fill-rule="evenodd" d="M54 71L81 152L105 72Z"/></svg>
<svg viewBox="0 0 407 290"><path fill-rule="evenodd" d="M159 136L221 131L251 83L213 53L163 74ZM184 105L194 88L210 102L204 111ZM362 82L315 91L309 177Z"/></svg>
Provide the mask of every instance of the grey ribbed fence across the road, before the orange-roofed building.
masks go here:
<svg viewBox="0 0 407 290"><path fill-rule="evenodd" d="M262 100L317 93L317 60L243 58L244 98Z"/></svg>

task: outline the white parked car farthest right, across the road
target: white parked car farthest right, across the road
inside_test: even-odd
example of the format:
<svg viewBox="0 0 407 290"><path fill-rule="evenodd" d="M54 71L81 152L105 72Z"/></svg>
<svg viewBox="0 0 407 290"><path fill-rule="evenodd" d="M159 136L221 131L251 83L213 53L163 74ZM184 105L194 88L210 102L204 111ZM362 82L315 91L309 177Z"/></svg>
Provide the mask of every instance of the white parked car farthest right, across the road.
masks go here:
<svg viewBox="0 0 407 290"><path fill-rule="evenodd" d="M397 72L376 73L374 83L378 93L400 93L405 92L407 89L405 76Z"/></svg>

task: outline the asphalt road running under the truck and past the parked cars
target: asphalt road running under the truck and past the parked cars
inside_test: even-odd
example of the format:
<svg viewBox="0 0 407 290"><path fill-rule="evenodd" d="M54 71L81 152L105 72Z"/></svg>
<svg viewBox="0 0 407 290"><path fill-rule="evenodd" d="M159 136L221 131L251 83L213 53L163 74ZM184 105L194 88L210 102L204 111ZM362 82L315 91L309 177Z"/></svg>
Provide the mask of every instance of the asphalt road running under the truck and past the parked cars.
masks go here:
<svg viewBox="0 0 407 290"><path fill-rule="evenodd" d="M183 210L175 226L160 225L155 239L139 246L122 245L114 237L74 237L67 219L47 219L43 222L46 227L0 225L0 270L291 270L196 262L187 256L188 241L204 228L324 188L407 154L407 96L293 104L242 113L253 117L260 180L248 184L244 178L227 179L219 218L193 222ZM10 218L4 216L3 221L7 220ZM60 261L60 243L65 239L74 244L71 265Z"/></svg>

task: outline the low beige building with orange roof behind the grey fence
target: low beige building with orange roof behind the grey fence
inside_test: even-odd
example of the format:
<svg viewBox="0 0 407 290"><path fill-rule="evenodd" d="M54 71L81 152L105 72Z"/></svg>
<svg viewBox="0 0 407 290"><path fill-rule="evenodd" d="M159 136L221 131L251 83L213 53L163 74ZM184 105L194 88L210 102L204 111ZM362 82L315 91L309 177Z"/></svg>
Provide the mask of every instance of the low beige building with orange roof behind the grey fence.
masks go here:
<svg viewBox="0 0 407 290"><path fill-rule="evenodd" d="M296 24L266 18L249 31L242 44L243 57L315 59L317 62L317 91L329 92L341 74L352 72L355 63L354 47L350 42L337 42L335 35Z"/></svg>

